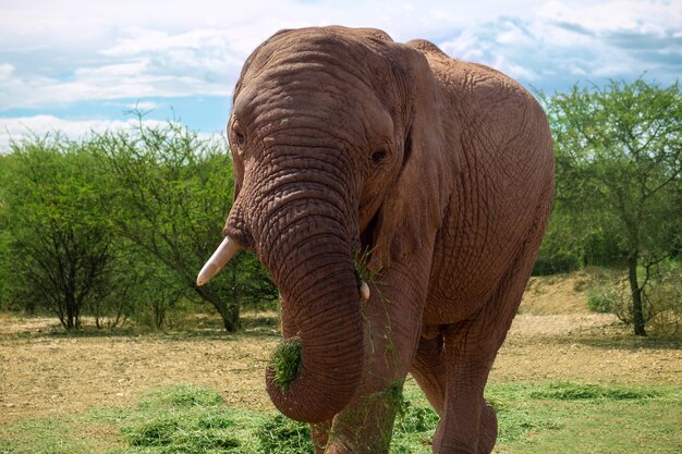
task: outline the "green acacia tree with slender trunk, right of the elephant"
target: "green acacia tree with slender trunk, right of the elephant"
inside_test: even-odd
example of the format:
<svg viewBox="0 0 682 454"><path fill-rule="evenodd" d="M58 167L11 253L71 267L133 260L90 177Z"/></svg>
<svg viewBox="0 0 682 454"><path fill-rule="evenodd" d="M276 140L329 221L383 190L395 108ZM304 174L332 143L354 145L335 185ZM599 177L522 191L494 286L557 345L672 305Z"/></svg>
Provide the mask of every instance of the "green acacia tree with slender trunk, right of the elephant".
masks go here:
<svg viewBox="0 0 682 454"><path fill-rule="evenodd" d="M634 332L645 335L651 267L682 244L679 83L612 81L543 100L556 140L559 204L588 214L590 229L617 241L628 263Z"/></svg>

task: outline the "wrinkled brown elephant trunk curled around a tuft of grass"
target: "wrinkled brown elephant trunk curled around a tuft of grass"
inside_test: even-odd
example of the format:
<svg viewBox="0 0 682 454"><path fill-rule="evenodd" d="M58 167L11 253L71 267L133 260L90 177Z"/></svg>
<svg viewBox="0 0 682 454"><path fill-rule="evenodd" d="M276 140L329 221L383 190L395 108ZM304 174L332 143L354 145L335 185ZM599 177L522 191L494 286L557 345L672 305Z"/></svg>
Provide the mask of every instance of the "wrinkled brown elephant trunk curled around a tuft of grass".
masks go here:
<svg viewBox="0 0 682 454"><path fill-rule="evenodd" d="M319 422L343 409L360 383L361 291L342 198L291 181L284 186L259 204L267 207L259 220L245 221L236 204L227 233L239 238L236 225L251 226L253 246L280 291L283 345L297 346L293 357L276 351L266 371L270 398L292 419ZM293 370L284 382L282 364Z"/></svg>

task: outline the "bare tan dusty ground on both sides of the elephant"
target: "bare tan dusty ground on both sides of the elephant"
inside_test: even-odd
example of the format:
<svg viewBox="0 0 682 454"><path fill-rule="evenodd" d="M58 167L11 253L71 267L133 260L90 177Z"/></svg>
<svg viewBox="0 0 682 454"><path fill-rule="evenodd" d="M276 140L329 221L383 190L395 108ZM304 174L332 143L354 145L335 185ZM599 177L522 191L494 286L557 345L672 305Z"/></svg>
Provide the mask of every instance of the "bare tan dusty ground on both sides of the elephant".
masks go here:
<svg viewBox="0 0 682 454"><path fill-rule="evenodd" d="M637 339L614 317L587 312L586 280L532 280L490 382L682 383L682 344ZM212 386L241 408L271 408L264 373L279 339L275 315L246 322L239 335L204 323L186 333L74 336L54 319L2 316L0 424L130 405L145 390L180 383Z"/></svg>

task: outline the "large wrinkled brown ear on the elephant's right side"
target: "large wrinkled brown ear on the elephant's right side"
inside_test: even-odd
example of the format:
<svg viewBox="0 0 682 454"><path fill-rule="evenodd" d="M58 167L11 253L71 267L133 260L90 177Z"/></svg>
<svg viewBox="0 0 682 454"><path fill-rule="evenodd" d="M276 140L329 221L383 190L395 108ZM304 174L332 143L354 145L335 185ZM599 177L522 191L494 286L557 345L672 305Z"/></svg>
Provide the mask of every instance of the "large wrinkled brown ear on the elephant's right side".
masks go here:
<svg viewBox="0 0 682 454"><path fill-rule="evenodd" d="M403 162L375 217L373 270L433 244L461 169L456 125L449 122L446 132L443 120L449 109L417 46L422 42L391 45L392 65L405 84L399 113L404 124Z"/></svg>

